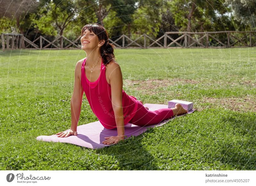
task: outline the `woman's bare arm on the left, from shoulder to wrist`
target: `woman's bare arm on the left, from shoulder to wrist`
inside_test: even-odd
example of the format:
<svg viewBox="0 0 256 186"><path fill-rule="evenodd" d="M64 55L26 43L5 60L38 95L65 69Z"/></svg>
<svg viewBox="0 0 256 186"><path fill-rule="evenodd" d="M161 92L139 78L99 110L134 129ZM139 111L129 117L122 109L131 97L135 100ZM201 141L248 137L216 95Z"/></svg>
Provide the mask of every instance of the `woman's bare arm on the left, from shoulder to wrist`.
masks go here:
<svg viewBox="0 0 256 186"><path fill-rule="evenodd" d="M71 107L71 128L76 131L77 123L80 117L82 99L84 94L84 89L81 84L81 66L83 60L80 60L76 63L75 68L75 82L74 82L74 90L73 95L70 101Z"/></svg>

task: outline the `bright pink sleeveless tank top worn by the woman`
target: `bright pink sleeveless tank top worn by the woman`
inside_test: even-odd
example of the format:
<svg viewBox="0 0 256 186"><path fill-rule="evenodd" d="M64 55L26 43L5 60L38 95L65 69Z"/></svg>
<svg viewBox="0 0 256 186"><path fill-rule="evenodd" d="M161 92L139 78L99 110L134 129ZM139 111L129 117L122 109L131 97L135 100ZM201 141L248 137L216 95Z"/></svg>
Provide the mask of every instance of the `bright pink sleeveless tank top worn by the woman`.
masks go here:
<svg viewBox="0 0 256 186"><path fill-rule="evenodd" d="M92 108L92 112L106 129L114 129L116 128L116 119L111 102L111 86L106 78L106 66L101 58L100 76L96 81L90 82L85 75L85 63L86 58L81 67L81 84L90 107ZM124 125L126 125L135 115L138 102L135 97L126 94L124 90L122 90L122 104Z"/></svg>

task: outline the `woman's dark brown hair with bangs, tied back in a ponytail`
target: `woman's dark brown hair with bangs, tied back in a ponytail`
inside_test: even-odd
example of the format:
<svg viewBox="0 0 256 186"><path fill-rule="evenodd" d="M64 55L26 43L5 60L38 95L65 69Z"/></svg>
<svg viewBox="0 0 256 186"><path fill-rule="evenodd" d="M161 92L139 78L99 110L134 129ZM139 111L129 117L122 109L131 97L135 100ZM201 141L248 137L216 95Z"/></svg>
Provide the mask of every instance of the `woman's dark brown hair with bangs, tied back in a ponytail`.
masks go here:
<svg viewBox="0 0 256 186"><path fill-rule="evenodd" d="M103 59L103 63L107 65L112 60L115 61L116 58L114 55L114 48L116 48L116 46L108 41L107 30L97 23L87 24L82 28L81 37L83 36L83 33L86 29L90 32L95 33L98 36L99 40L105 40L105 43L100 47L100 55Z"/></svg>

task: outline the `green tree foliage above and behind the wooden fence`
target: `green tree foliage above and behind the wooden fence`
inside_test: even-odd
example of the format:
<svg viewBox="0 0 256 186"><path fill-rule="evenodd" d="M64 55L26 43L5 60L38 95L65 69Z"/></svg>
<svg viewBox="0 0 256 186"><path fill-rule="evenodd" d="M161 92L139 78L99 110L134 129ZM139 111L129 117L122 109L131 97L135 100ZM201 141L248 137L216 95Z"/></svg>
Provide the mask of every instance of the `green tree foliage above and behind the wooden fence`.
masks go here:
<svg viewBox="0 0 256 186"><path fill-rule="evenodd" d="M169 31L255 30L255 0L5 0L0 31L28 37L77 38L88 23L104 26L110 37Z"/></svg>

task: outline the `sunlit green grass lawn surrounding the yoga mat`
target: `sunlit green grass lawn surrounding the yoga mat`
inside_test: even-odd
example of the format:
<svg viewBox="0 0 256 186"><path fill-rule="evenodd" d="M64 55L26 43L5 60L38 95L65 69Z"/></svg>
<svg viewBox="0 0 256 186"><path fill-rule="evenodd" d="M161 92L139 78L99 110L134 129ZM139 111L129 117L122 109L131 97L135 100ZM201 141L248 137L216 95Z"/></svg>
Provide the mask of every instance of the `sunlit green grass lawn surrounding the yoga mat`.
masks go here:
<svg viewBox="0 0 256 186"><path fill-rule="evenodd" d="M70 128L74 68L85 52L6 51L0 57L1 170L256 170L255 110L202 102L246 96L255 102L256 48L117 49L115 54L124 81L199 82L176 80L147 93L146 85L124 86L126 93L144 103L193 101L202 110L98 150L39 142L37 136ZM78 125L94 121L84 95Z"/></svg>

